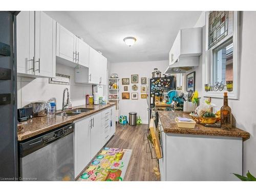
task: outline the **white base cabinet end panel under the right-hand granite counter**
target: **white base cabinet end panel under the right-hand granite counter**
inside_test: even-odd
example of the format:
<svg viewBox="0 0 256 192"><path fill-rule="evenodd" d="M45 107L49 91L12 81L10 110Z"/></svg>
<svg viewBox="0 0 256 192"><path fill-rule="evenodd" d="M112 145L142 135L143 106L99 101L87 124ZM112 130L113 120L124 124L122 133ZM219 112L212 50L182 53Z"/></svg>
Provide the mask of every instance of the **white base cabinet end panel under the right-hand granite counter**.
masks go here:
<svg viewBox="0 0 256 192"><path fill-rule="evenodd" d="M231 173L243 173L242 138L161 132L160 140L161 181L237 181Z"/></svg>

